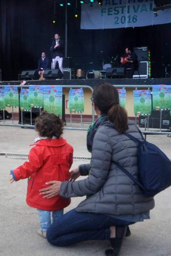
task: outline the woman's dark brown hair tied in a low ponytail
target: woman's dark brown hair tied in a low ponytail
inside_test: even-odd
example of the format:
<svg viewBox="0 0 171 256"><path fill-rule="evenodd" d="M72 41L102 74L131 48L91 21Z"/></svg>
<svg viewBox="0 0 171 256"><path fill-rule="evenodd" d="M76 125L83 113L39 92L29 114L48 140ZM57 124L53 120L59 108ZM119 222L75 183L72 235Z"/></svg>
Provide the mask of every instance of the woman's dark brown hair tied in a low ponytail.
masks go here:
<svg viewBox="0 0 171 256"><path fill-rule="evenodd" d="M128 129L128 115L124 108L119 105L117 89L110 83L100 83L93 91L93 102L101 114L107 114L109 121L119 133Z"/></svg>

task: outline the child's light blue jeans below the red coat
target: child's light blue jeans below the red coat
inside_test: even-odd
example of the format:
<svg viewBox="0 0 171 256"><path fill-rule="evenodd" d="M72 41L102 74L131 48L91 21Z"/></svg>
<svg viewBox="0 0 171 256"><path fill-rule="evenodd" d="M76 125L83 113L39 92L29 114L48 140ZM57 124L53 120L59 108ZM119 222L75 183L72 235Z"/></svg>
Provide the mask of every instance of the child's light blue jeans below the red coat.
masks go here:
<svg viewBox="0 0 171 256"><path fill-rule="evenodd" d="M39 220L41 224L41 231L46 231L51 225L51 211L39 210ZM64 209L52 211L52 223L55 222L61 215L64 214Z"/></svg>

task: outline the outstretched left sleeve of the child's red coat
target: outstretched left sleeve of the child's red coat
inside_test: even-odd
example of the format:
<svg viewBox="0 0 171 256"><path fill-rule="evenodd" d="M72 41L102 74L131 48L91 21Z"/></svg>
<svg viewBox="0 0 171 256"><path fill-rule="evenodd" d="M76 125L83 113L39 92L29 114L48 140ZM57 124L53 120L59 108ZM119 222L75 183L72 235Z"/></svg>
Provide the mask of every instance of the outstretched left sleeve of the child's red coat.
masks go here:
<svg viewBox="0 0 171 256"><path fill-rule="evenodd" d="M39 168L43 165L43 158L38 152L38 146L31 148L28 155L27 162L24 162L23 165L11 171L11 174L15 181L28 178L34 172L37 172Z"/></svg>

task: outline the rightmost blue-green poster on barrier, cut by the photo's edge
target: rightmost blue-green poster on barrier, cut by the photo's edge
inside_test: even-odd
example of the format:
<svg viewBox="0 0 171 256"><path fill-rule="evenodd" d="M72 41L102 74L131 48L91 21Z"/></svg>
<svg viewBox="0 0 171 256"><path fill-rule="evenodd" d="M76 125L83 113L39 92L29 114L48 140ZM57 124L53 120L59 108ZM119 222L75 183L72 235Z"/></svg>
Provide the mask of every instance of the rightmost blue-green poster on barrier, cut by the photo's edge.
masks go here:
<svg viewBox="0 0 171 256"><path fill-rule="evenodd" d="M153 109L171 108L171 85L153 85Z"/></svg>

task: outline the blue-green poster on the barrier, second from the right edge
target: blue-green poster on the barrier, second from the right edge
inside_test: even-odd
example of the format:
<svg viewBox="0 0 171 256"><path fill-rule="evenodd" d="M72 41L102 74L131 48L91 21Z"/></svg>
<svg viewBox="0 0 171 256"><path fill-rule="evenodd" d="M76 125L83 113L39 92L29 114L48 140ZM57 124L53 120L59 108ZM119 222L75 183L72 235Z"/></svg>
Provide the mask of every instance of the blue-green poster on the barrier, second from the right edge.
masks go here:
<svg viewBox="0 0 171 256"><path fill-rule="evenodd" d="M134 90L133 91L134 113L135 115L151 114L151 91Z"/></svg>

